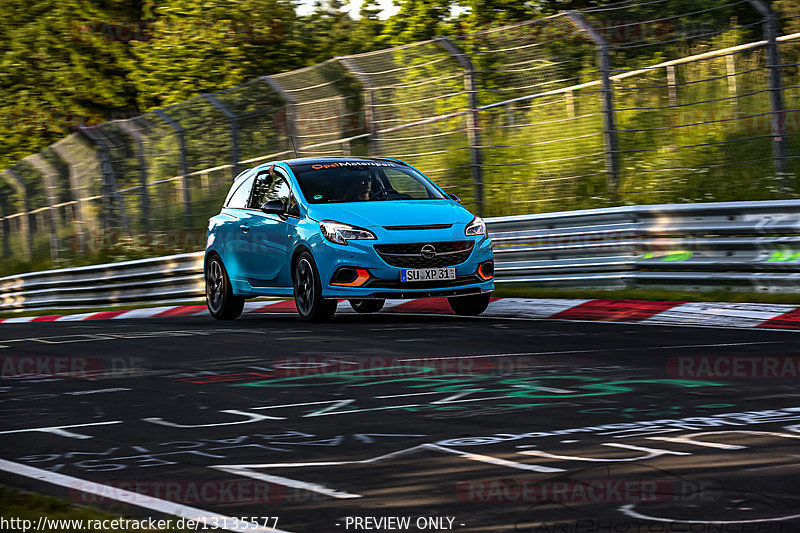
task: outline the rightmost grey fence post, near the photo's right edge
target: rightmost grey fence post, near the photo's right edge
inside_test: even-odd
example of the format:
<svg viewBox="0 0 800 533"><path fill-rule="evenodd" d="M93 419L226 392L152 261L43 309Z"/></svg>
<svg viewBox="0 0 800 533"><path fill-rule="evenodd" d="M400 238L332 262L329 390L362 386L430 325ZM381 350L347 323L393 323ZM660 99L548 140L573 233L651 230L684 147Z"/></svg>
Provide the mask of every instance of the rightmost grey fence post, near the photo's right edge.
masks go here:
<svg viewBox="0 0 800 533"><path fill-rule="evenodd" d="M772 120L772 159L778 185L791 190L789 182L789 146L786 139L786 111L783 107L783 80L781 79L781 56L778 50L778 17L764 0L749 0L764 17L764 39L767 41L767 68L769 69L769 95Z"/></svg>

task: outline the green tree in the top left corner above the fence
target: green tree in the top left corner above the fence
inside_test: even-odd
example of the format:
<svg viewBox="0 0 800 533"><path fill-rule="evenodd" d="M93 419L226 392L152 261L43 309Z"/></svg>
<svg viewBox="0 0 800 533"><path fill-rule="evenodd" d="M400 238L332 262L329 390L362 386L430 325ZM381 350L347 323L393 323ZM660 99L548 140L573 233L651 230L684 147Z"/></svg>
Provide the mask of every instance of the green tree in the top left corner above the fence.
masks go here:
<svg viewBox="0 0 800 533"><path fill-rule="evenodd" d="M141 3L4 0L0 17L0 168L74 130L136 111L129 47L111 21Z"/></svg>

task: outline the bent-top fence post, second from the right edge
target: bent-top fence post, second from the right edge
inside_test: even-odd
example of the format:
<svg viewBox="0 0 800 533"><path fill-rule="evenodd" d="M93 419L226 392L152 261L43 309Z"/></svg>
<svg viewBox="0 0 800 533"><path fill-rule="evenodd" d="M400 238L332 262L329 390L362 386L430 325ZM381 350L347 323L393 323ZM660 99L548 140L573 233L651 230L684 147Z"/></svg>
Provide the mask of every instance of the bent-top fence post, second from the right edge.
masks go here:
<svg viewBox="0 0 800 533"><path fill-rule="evenodd" d="M581 31L597 45L597 60L600 64L602 87L601 111L603 113L603 142L606 155L606 187L612 201L619 199L619 137L614 120L614 85L611 81L611 46L595 31L589 21L576 11L567 11L567 16Z"/></svg>

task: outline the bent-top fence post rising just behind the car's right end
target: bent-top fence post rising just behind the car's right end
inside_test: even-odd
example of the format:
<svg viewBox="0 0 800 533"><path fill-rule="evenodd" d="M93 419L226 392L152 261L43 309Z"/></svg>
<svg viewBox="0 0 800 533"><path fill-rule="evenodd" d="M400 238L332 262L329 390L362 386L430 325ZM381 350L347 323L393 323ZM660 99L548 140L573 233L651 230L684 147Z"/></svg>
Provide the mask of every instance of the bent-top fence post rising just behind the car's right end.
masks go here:
<svg viewBox="0 0 800 533"><path fill-rule="evenodd" d="M467 54L447 37L436 37L439 43L464 69L464 90L467 92L467 142L469 142L469 168L472 175L475 210L483 216L483 151L481 143L480 117L478 116L478 89L475 66Z"/></svg>

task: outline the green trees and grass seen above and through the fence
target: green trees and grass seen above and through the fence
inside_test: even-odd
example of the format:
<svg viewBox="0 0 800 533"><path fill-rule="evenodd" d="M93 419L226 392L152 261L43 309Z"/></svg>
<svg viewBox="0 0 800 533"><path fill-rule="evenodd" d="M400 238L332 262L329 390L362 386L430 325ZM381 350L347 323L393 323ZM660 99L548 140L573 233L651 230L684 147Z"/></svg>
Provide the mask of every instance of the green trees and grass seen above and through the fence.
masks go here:
<svg viewBox="0 0 800 533"><path fill-rule="evenodd" d="M225 117L201 95L215 93L242 118L239 142L241 159L288 150L281 133L283 103L266 84L252 81L323 62L339 55L360 54L400 46L435 36L456 39L479 71L479 104L486 105L531 92L529 87L568 78L569 86L596 80L595 47L586 39L564 39L533 48L503 32L476 34L510 23L541 19L561 10L604 6L608 0L395 0L399 12L379 18L375 0L366 0L358 18L351 18L341 0L318 1L307 15L298 15L297 0L3 0L0 3L0 169L13 168L29 188L32 208L47 205L44 184L27 162L19 161L42 152L62 178L59 201L71 199L69 174L56 153L47 148L79 125L93 125L118 118L140 117L136 125L147 132L150 180L181 174L175 154L178 139L152 112L166 108L192 131L187 135L187 170L199 171L230 162L229 126ZM641 2L643 10L652 2ZM800 3L774 0L783 17L784 34L800 32ZM721 7L720 9L716 9ZM706 11L709 8L715 8ZM652 20L660 13L699 15L675 19L676 28L715 28L701 39L661 39L644 47L616 49L615 69L646 65L725 48L761 39L761 27L747 3L709 0L699 6L690 0L665 0L659 11L629 10L622 23ZM601 12L603 13L603 12ZM755 21L755 22L754 22ZM613 21L612 21L613 23ZM608 20L599 25L609 24ZM745 26L743 29L735 29ZM597 26L596 26L597 27ZM719 32L720 29L727 31ZM547 31L556 31L548 28ZM544 33L546 37L548 34ZM556 33L558 35L558 33ZM680 32L676 36L681 36ZM663 42L662 42L663 41ZM522 43L524 44L524 43ZM514 48L503 52L504 48ZM438 56L436 55L438 54ZM800 109L800 45L781 45L786 108ZM446 61L431 63L434 57ZM552 66L565 61L566 67ZM385 110L378 118L429 117L463 110L460 67L435 44L401 48L359 56L365 71L394 73L376 80L391 86L375 92ZM540 64L521 69L523 74L503 74L514 62ZM597 87L565 96L537 98L534 102L480 113L484 146L485 215L604 207L619 203L641 204L702 200L749 200L787 198L798 190L781 188L770 158L769 94L765 87L763 49L736 54L739 98L728 101L729 79L725 57L676 68L678 102L702 102L684 108L668 98L665 69L615 84L617 127L620 129L622 175L620 194L612 199L606 189L600 99ZM537 63L539 62L539 63ZM320 69L320 83L340 74ZM441 77L446 81L430 83ZM347 78L347 76L345 76ZM309 78L310 79L310 78ZM250 82L250 83L248 83ZM358 94L352 79L339 91ZM245 84L245 85L242 85ZM350 84L350 85L347 85ZM533 85L532 85L533 84ZM514 88L518 87L519 90ZM392 107L397 103L409 102ZM418 102L418 103L417 103ZM337 104L355 111L359 97ZM324 106L323 106L324 107ZM343 107L344 109L344 107ZM320 115L326 113L320 107ZM384 113L384 111L381 111ZM407 113L407 115L404 115ZM749 118L743 118L749 117ZM736 120L734 120L736 119ZM408 120L406 120L407 122ZM791 135L791 154L800 153L800 111L786 115ZM696 122L696 126L675 125ZM356 126L363 128L363 123ZM104 126L108 133L117 128ZM465 117L406 128L382 135L381 150L409 160L429 173L449 192L458 194L468 207L474 202L470 175ZM331 135L335 134L336 128ZM355 134L354 132L353 134ZM318 132L310 132L309 142ZM112 148L118 185L136 187L139 180L137 149L126 139ZM324 137L325 140L328 137ZM424 139L424 140L419 140ZM730 142L736 141L736 142ZM77 140L71 140L77 143ZM303 144L308 144L305 140ZM74 150L88 150L73 146ZM366 145L353 143L351 153L366 153ZM88 159L88 158L87 158ZM520 163L521 165L513 165ZM535 164L531 164L535 163ZM731 164L736 163L736 164ZM96 164L96 163L95 163ZM800 159L791 170L800 174ZM84 196L102 193L97 169L85 169ZM151 212L141 210L135 194L122 200L133 234L154 228L164 231L202 231L205 219L215 212L226 192L230 170L218 175L195 175L184 187L178 181L151 185ZM790 176L792 180L793 177ZM216 185L215 185L216 184ZM193 211L182 209L182 190L192 192ZM0 180L0 200L10 212L29 211L19 193ZM104 209L99 201L86 206L91 220ZM59 238L70 238L66 213ZM30 217L33 258L4 259L3 272L51 266L50 242L44 216ZM97 227L84 227L94 231ZM127 238L127 237L126 237ZM10 246L20 249L27 235L14 235ZM178 243L169 250L152 251L136 243L113 242L106 256L76 254L61 257L63 266L105 260L163 255L201 247L197 239ZM9 246L4 243L4 246ZM14 254L6 254L13 256Z"/></svg>

